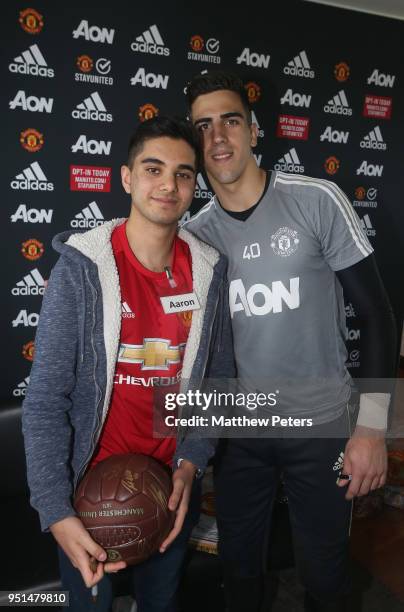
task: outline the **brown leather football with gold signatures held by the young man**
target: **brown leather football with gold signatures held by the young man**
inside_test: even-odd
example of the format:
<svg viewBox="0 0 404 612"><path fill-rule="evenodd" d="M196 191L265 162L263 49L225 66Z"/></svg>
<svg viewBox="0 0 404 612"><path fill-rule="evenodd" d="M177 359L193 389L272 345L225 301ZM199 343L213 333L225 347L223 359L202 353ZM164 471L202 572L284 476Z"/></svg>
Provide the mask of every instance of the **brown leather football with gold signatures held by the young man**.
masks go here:
<svg viewBox="0 0 404 612"><path fill-rule="evenodd" d="M133 565L156 552L172 528L171 491L169 468L153 457L113 455L85 474L74 506L108 561Z"/></svg>

